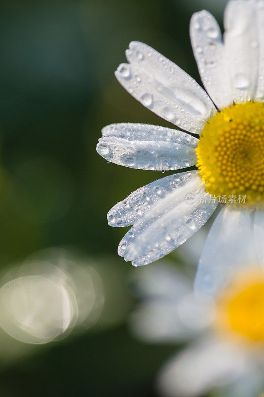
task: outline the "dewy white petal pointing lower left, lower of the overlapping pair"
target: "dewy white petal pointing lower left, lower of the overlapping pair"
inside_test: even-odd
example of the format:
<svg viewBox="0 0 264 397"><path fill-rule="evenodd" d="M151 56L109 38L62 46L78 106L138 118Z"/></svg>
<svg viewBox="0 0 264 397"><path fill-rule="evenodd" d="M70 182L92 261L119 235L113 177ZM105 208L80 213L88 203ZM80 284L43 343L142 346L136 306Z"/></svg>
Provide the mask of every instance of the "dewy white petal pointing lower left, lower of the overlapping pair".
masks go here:
<svg viewBox="0 0 264 397"><path fill-rule="evenodd" d="M205 224L217 205L200 203L200 195L208 196L197 175L158 200L123 237L118 254L132 265L147 265L183 244Z"/></svg>

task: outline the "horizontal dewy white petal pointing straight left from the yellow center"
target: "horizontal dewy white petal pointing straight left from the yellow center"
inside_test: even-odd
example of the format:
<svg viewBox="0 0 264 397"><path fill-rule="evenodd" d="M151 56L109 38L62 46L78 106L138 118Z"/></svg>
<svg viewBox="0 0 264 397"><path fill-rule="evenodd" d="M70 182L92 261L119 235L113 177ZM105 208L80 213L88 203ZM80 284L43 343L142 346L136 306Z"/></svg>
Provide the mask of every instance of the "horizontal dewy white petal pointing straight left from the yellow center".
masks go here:
<svg viewBox="0 0 264 397"><path fill-rule="evenodd" d="M197 146L199 140L186 132L123 123L107 126L103 129L103 135L97 151L115 164L168 171L186 168L197 162L194 145Z"/></svg>

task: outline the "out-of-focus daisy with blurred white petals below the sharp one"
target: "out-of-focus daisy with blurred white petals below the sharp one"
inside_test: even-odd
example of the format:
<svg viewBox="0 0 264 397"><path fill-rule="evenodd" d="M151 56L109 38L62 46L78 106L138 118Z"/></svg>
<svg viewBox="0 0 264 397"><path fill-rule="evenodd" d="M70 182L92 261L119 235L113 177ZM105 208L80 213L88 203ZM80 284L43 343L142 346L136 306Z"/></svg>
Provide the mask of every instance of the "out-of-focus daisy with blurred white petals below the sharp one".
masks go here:
<svg viewBox="0 0 264 397"><path fill-rule="evenodd" d="M226 267L228 270L228 266ZM132 313L134 334L147 342L188 342L158 373L163 397L258 397L264 390L264 272L246 265L211 299L195 298L192 283L171 265L137 272L142 301ZM231 279L231 280L230 280ZM135 282L136 281L136 282Z"/></svg>

